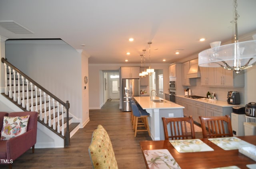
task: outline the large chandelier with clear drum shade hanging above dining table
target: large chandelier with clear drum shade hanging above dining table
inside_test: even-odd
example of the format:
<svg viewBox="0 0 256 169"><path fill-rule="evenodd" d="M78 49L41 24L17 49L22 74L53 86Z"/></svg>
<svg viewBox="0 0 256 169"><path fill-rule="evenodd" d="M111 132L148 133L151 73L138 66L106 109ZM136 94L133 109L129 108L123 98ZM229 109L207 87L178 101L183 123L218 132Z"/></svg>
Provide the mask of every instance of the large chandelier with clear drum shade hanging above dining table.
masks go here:
<svg viewBox="0 0 256 169"><path fill-rule="evenodd" d="M201 67L223 67L239 73L256 64L256 39L252 41L238 42L237 2L234 0L235 35L234 43L220 46L220 41L210 43L211 48L198 54L198 65ZM253 36L255 37L255 36Z"/></svg>

